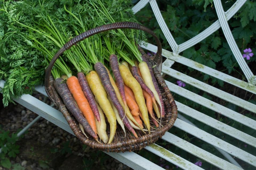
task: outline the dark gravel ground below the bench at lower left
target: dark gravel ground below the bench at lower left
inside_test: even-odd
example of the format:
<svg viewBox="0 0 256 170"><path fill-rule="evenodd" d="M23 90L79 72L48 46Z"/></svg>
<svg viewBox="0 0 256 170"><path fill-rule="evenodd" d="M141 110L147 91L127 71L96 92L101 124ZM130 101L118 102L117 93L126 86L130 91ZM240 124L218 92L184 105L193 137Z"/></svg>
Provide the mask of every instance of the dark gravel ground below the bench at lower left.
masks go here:
<svg viewBox="0 0 256 170"><path fill-rule="evenodd" d="M42 100L42 96L36 97ZM37 116L19 104L10 104L0 111L0 126L11 134ZM20 146L19 154L10 159L11 164L28 170L131 169L101 151L86 147L75 136L43 118L30 127L16 144ZM0 170L4 169L0 167Z"/></svg>

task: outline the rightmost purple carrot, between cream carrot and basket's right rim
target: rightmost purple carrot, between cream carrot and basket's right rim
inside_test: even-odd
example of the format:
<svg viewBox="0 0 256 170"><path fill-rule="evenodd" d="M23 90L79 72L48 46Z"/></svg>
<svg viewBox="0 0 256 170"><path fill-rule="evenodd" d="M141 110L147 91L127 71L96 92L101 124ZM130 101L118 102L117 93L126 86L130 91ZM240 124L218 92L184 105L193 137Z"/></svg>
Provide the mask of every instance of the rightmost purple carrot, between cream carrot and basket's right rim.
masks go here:
<svg viewBox="0 0 256 170"><path fill-rule="evenodd" d="M141 50L140 50L141 52ZM144 53L145 54L145 53ZM145 54L146 55L146 54ZM155 86L155 90L157 91L157 94L159 96L159 99L160 99L160 102L161 102L161 106L162 106L162 112L161 112L161 115L162 117L165 117L165 105L164 105L164 102L163 102L163 97L162 97L162 94L160 92L160 89L159 89L159 86L158 86L158 83L157 83L157 80L155 79L155 75L154 75L154 72L153 72L153 69L152 69L152 65L151 63L146 59L146 57L143 55L142 53L142 61L145 61L147 63L147 66L149 67L149 71L150 71L150 74L151 74L151 77L152 77L152 81L153 81L153 84Z"/></svg>

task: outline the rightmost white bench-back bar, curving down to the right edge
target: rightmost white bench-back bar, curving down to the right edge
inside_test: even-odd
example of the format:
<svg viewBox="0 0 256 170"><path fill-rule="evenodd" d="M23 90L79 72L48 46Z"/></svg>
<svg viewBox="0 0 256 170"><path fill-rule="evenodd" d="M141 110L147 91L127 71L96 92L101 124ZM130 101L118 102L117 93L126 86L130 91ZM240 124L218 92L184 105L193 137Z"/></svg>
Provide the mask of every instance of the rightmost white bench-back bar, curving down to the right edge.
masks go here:
<svg viewBox="0 0 256 170"><path fill-rule="evenodd" d="M245 77L247 78L248 82L251 82L251 79L253 78L253 73L251 72L251 70L248 67L245 59L243 58L237 44L235 43L235 39L231 33L229 24L227 23L227 19L226 19L221 1L213 0L213 2L215 5L215 10L216 10L218 18L219 18L219 22L221 24L221 28L226 37L227 43L229 44L229 47L230 47L231 51L233 52L235 59L237 60L237 63L239 64L240 68L242 69L243 73L245 74Z"/></svg>

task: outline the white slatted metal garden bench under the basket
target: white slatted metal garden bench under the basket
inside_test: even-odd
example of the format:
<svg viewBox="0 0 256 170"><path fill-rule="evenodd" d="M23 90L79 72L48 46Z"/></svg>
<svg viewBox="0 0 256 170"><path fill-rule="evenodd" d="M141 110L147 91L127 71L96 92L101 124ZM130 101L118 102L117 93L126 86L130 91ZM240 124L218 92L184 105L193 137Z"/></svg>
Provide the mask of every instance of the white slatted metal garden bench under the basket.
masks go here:
<svg viewBox="0 0 256 170"><path fill-rule="evenodd" d="M133 7L134 13L137 13L140 9L145 7L147 3L150 3L150 6L155 14L155 17L163 31L163 34L165 35L168 43L170 44L171 49L173 52L167 51L163 49L162 55L166 57L167 59L164 61L162 65L162 73L169 75L171 77L177 78L178 80L181 80L183 82L186 82L187 84L190 84L200 90L203 90L207 93L210 93L214 96L218 96L219 98L228 101L230 103L233 103L239 107L242 107L248 111L251 111L253 113L256 113L256 105L253 103L247 102L241 98L235 97L229 93L226 93L222 90L219 90L213 86L210 86L204 82L198 81L193 77L189 77L181 72L178 72L171 68L172 64L174 62L181 63L183 65L186 65L188 67L191 67L199 72L206 73L210 76L216 77L220 80L223 80L231 85L237 86L238 88L247 90L248 92L256 94L256 76L253 75L251 70L249 69L248 65L246 64L245 60L242 57L241 52L239 51L234 38L231 34L231 31L229 29L227 21L241 8L241 6L245 3L246 0L238 0L235 2L235 4L226 12L223 11L223 7L221 5L221 1L214 0L215 9L218 15L219 20L217 20L214 24L212 24L210 27L208 27L206 30L198 34L197 36L191 38L185 43L177 44L171 35L169 29L166 26L166 23L161 15L161 12L157 6L156 0L141 0ZM219 28L222 28L224 35L227 39L227 42L238 62L240 65L243 73L245 74L245 77L247 78L248 82L239 80L235 77L229 76L225 73L219 72L215 69L209 68L205 65L199 64L193 60L187 59L183 56L180 56L179 53L184 51L185 49L197 44L201 40L205 39L207 36L211 35L214 31L218 30ZM157 47L152 44L148 44L147 47L143 47L147 50L156 52ZM3 88L4 85L3 80L0 81L0 88ZM202 106L205 106L217 113L220 113L230 119L233 119L245 126L248 126L254 130L256 130L256 121L253 119L250 119L240 113L237 113L227 107L224 107L218 103L215 103L209 99L206 99L202 96L199 96L198 94L195 94L193 92L190 92L189 90L186 90L184 88L181 88L171 82L166 81L169 89L179 94L180 96L183 96L187 99L190 99ZM45 89L43 86L38 86L35 88L35 90L39 93L44 94L45 96ZM47 119L48 121L54 123L55 125L63 128L67 132L71 131L69 125L67 124L65 118L59 112L58 110L54 109L53 107L47 105L46 103L36 99L35 97L31 95L22 95L20 98L14 99L16 102L20 103L21 105L27 107L31 111L37 113L38 115L42 116L43 118ZM243 131L237 130L229 125L226 125L225 123L222 123L212 117L209 117L208 115L205 115L204 113L201 113L197 110L194 110L178 101L176 101L176 104L178 106L179 113L182 113L184 115L187 115L193 119L196 119L202 123L206 123L207 125L215 128L227 135L230 135L234 137L237 140L240 140L244 143L247 143L253 147L256 147L256 138L253 136L250 136L246 134ZM31 125L28 125L28 127ZM233 146L232 144L225 142L222 139L219 139L215 137L214 135L211 135L207 132L205 132L203 129L200 129L193 125L188 119L184 118L181 114L178 115L178 118L174 124L176 128L179 128L203 141L208 143L209 145L214 146L217 148L219 152L221 152L222 155L226 157L226 160L223 160L222 158L219 158L202 148L199 148L186 140L183 140L179 138L178 136L175 136L169 132L166 132L166 134L162 137L163 140L166 142L169 142L173 144L176 147L181 148L182 150L185 150L186 152L189 152L190 154L205 160L206 162L209 162L210 164L214 165L215 167L218 167L220 169L242 169L242 167L233 159L234 157L237 157L246 163L256 167L256 157L252 154L249 154L248 152L243 151L242 149ZM27 128L28 128L27 127ZM202 169L199 166L195 165L194 163L189 162L186 159L183 159L182 157L176 155L175 153L172 153L165 148L162 148L161 146L157 144L153 144L151 146L147 146L145 148L146 150L162 157L163 159L179 166L182 169ZM133 169L163 169L159 167L158 165L152 163L151 161L143 158L142 156L139 156L138 154L135 154L134 152L125 152L125 153L107 153L110 156L114 157L115 159L121 161L122 163L125 163L126 165L130 166Z"/></svg>

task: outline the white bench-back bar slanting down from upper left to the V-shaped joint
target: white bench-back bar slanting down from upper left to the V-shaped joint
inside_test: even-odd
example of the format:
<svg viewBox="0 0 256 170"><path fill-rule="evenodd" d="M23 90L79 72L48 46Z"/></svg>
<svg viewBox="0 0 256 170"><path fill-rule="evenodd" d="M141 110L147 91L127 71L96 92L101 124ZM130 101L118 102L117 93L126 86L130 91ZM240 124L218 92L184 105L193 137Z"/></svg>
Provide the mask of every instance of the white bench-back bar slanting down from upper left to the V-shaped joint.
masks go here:
<svg viewBox="0 0 256 170"><path fill-rule="evenodd" d="M165 35L167 42L170 44L171 49L175 51L178 48L178 44L175 42L173 36L171 35L171 32L169 31L169 28L167 27L163 16L159 10L159 7L157 5L157 2L155 0L151 0L150 2L151 8L155 14L155 18L157 19L157 22L159 26L161 27L161 30L163 31L163 34Z"/></svg>

